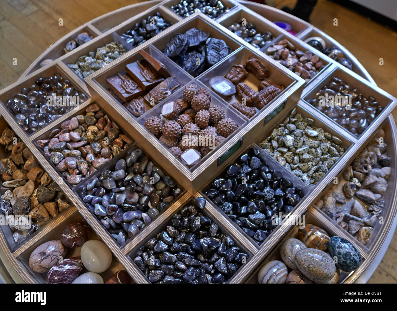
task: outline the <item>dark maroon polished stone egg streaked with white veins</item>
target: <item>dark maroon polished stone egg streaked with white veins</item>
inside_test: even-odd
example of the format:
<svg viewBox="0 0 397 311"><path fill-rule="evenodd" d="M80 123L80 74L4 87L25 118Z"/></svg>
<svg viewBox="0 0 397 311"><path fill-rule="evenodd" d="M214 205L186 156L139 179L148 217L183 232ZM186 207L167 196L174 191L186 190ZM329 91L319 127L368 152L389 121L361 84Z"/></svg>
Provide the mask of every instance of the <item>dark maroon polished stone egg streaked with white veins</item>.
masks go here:
<svg viewBox="0 0 397 311"><path fill-rule="evenodd" d="M71 284L83 271L80 258L72 257L54 265L47 273L48 284Z"/></svg>

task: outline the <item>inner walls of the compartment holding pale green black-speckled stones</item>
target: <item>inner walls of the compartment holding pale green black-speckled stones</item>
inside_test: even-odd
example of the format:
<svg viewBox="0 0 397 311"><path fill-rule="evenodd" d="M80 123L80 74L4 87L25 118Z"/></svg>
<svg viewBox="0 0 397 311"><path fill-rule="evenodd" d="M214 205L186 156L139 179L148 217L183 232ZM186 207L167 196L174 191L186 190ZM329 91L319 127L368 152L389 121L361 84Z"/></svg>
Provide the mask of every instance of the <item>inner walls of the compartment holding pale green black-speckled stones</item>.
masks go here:
<svg viewBox="0 0 397 311"><path fill-rule="evenodd" d="M324 123L324 121L322 121L321 119L319 119L316 115L312 114L309 110L305 109L303 105L297 103L296 105L294 105L290 111L288 111L288 113L283 113L283 114L276 114L273 118L271 118L268 122L269 122L269 126L267 127L267 130L265 130L264 134L260 137L260 139L257 140L257 144L260 147L261 143L264 141L264 139L266 139L267 137L270 136L270 134L273 132L273 130L275 130L279 124L283 123L283 121L285 120L285 118L287 118L290 113L292 112L293 109L297 109L298 113L302 114L303 118L311 118L314 120L314 124L312 125L312 127L318 127L318 128L322 128L324 130L324 132L330 133L331 135L339 138L342 141L342 146L346 147L346 151L353 146L353 143L355 143L354 141L349 140L347 137L341 136L340 132L338 131L338 129L335 130L335 128L332 127L332 125L328 125L326 123ZM260 147L262 148L262 147ZM346 153L346 151L344 153ZM342 161L343 159L343 155L339 156L339 159L337 160L337 162ZM274 159L274 161L276 161L276 159ZM281 165L281 163L279 163L278 161L276 161L278 163L279 166L282 166L284 170L287 170L287 168L285 168L283 165ZM335 162L331 168L337 163ZM326 172L326 174L324 174L324 176L327 176L327 174L329 174L331 168L328 169L328 171ZM299 169L299 168L297 168ZM289 170L287 170L289 171ZM324 176L322 176L318 181L320 181L322 178L324 178ZM317 183L318 183L317 181Z"/></svg>

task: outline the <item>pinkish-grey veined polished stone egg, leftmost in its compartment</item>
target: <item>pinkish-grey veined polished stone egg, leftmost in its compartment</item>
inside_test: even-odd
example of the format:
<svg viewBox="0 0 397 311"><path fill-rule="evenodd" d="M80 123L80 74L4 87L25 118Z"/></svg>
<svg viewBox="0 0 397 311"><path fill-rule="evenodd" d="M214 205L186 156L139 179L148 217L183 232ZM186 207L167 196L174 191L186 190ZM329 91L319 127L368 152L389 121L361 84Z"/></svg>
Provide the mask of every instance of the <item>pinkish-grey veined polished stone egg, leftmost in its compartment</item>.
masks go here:
<svg viewBox="0 0 397 311"><path fill-rule="evenodd" d="M38 273L48 272L58 263L59 257L64 257L65 254L66 248L61 240L45 242L33 250L29 258L29 267Z"/></svg>

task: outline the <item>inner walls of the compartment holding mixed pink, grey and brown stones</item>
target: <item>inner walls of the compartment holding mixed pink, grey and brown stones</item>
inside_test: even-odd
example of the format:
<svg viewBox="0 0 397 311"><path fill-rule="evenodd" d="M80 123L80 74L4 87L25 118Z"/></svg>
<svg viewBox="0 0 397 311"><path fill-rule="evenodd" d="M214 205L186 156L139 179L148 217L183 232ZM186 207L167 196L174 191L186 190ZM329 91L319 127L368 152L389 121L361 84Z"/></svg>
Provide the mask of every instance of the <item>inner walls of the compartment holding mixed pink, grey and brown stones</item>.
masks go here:
<svg viewBox="0 0 397 311"><path fill-rule="evenodd" d="M70 115L69 118L67 118L66 120L63 120L62 123L65 122L65 121L70 120L71 118L73 118L73 117L75 117L75 116L77 116L77 115L80 115L80 114L85 115L85 114L86 114L86 109L87 109L88 107L90 107L91 105L94 105L94 104L95 104L95 105L98 105L98 107L100 108L100 110L103 111L103 113L104 113L105 115L108 115L110 121L112 121L114 124L116 124L116 126L117 126L117 127L119 128L119 130L120 130L119 134L124 134L124 135L126 135L129 139L131 139L131 137L130 137L128 134L126 134L127 132L126 132L121 126L119 126L119 124L118 124L117 122L114 121L114 119L110 116L111 114L110 114L110 113L107 113L107 111L109 111L110 106L109 106L109 107L106 107L106 110L105 110L101 105L99 105L99 104L96 103L96 102L91 102L91 103L89 103L88 105L84 105L83 107L80 107L78 110L74 110L74 111L73 111L73 114ZM77 183L77 184L75 184L75 185L70 184L70 183L67 181L67 179L62 175L62 173L58 170L58 168L56 168L56 165L55 165L54 163L51 162L50 158L48 158L48 157L45 155L45 152L43 151L43 149L40 148L39 145L37 144L37 141L39 141L39 140L49 139L48 137L49 137L49 135L51 134L51 132L52 132L53 130L60 129L60 128L61 128L61 124L57 124L56 126L53 126L52 128L49 128L46 132L42 133L40 136L35 137L35 141L34 141L33 143L35 144L35 146L37 147L37 149L40 150L40 152L42 153L42 155L47 159L48 163L50 163L50 165L54 168L54 170L55 170L56 172L58 172L60 181L63 181L66 185L68 185L71 189L73 189L73 188L76 187L77 185L83 183L84 180L81 180L79 183ZM131 139L131 140L134 141L133 139ZM87 144L86 144L86 145L87 145ZM86 145L84 145L84 146L86 146ZM126 147L127 145L128 145L128 144L125 142L123 148L127 148L127 149L128 149L128 147ZM74 149L74 150L77 150L77 149ZM121 152L122 152L122 151L124 151L124 150L121 150ZM112 155L112 158L113 158L113 155ZM112 160L112 158L111 158L111 160ZM83 159L84 159L84 157L83 157ZM101 168L102 168L102 167L101 167ZM101 170L101 168L98 168L98 170ZM67 171L67 170L66 170L66 171ZM93 175L93 174L92 174L92 175Z"/></svg>

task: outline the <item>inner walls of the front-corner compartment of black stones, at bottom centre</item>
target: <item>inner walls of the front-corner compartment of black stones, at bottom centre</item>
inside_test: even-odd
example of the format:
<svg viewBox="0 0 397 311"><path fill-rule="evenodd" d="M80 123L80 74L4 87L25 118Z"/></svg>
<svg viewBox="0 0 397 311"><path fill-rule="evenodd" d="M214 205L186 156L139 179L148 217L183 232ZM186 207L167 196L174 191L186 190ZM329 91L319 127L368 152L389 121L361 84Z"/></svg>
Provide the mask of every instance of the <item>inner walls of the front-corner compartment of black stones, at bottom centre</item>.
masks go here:
<svg viewBox="0 0 397 311"><path fill-rule="evenodd" d="M178 213L181 211L181 209L182 209L183 207L187 206L187 205L195 205L195 199L194 199L194 198L190 198L189 200L187 200L187 202L181 204L181 207L179 207L175 212L173 212L172 215L170 215L168 218L166 218L166 219L163 221L163 223L162 223L159 227L157 227L155 230L153 230L147 237L145 237L145 239L144 239L142 242L140 242L137 246L135 246L135 247L133 248L133 250L127 255L127 257L131 260L131 262L133 263L133 265L135 265L135 266L137 267L137 270L141 273L142 277L143 277L144 279L146 279L146 282L150 283L150 281L145 277L145 275L143 274L143 272L142 272L142 271L138 268L138 266L134 263L133 259L137 257L136 254L137 254L138 250L139 250L141 247L145 246L145 244L146 244L146 242L148 242L148 240L150 240L151 238L155 238L156 235L157 235L158 233L161 233L163 230L166 230L166 227L167 227L168 225L171 224L171 219L172 219L172 217L173 217L175 214L178 214ZM199 210L199 212L202 213L203 216L208 217L208 218L212 221L212 223L215 223L215 224L218 226L218 228L219 228L219 230L220 230L221 233L223 233L223 234L225 234L225 235L229 235L229 236L233 239L233 241L234 241L234 246L237 246L237 247L240 248L240 252L244 252L245 254L248 254L249 258L247 259L247 262L248 262L249 260L252 259L252 254L251 254L251 252L249 252L249 251L247 250L247 248L245 248L245 246L243 246L243 245L238 241L238 239L236 239L233 235L229 234L228 231L227 231L227 229L225 229L225 227L218 221L218 219L216 219L216 218L213 216L213 214L212 214L208 209L204 208L203 210ZM237 269L237 271L234 273L234 275L233 275L227 282L230 282L231 280L233 280L233 277L234 277L235 275L237 275L238 271L239 271L239 269Z"/></svg>

